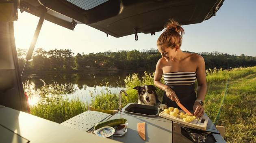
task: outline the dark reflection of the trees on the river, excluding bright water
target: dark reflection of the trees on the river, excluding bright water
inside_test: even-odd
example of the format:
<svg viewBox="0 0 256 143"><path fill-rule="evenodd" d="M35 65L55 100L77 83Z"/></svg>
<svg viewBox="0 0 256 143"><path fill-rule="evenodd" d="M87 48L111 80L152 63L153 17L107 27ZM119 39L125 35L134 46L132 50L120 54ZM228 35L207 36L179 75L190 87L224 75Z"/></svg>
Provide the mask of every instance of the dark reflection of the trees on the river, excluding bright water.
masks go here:
<svg viewBox="0 0 256 143"><path fill-rule="evenodd" d="M79 72L79 73L68 73L68 74L58 74L58 73L44 73L44 74L27 74L23 79L30 80L35 83L35 88L40 88L43 83L39 80L42 79L46 84L56 81L59 84L72 83L77 84L79 89L82 89L84 85L93 87L99 86L100 83L104 84L109 82L110 87L121 87L124 86L124 78L128 74L135 73L134 71L124 72L124 71L111 71L111 72ZM143 72L140 72L143 74Z"/></svg>

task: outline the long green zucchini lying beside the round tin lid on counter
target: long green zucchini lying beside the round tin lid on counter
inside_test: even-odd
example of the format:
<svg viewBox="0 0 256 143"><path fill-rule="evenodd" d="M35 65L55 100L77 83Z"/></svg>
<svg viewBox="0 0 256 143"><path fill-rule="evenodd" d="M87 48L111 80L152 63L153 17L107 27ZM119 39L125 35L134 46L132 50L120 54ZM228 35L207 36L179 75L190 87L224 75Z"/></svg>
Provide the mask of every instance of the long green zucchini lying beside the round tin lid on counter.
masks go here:
<svg viewBox="0 0 256 143"><path fill-rule="evenodd" d="M103 121L103 122L99 122L97 124L95 124L94 126L94 130L98 130L99 128L102 128L104 126L117 126L120 124L124 124L127 120L124 118L120 118L120 119L113 119L113 120L107 120L107 121Z"/></svg>

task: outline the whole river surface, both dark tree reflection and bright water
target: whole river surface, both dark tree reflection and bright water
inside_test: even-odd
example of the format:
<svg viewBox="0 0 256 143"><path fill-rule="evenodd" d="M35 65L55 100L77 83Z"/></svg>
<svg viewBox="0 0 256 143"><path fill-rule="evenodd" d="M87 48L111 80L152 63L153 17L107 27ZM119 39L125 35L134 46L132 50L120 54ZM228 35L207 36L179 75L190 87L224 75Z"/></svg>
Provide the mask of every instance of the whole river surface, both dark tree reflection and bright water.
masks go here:
<svg viewBox="0 0 256 143"><path fill-rule="evenodd" d="M90 103L94 95L104 92L108 83L108 90L113 94L118 94L120 90L125 89L124 78L129 74L138 73L135 71L111 71L111 72L79 72L69 74L27 74L23 79L23 83L26 80L30 81L30 84L25 84L25 92L28 94L30 105L35 105L39 101L40 93L36 92L45 84L59 84L60 90L64 95L71 100L79 98L81 101ZM139 72L139 75L143 75L143 71ZM40 80L42 79L42 80Z"/></svg>

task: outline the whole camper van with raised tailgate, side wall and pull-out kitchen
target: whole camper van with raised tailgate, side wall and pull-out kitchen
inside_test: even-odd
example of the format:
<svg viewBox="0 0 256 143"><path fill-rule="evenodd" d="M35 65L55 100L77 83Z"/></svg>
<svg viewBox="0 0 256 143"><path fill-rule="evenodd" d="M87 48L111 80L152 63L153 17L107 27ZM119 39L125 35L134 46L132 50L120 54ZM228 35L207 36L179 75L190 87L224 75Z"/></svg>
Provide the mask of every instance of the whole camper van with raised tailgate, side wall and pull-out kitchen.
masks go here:
<svg viewBox="0 0 256 143"><path fill-rule="evenodd" d="M88 107L88 111L61 124L31 115L22 84L26 64L20 71L13 28L18 11L40 18L26 56L28 61L45 20L70 30L74 30L77 24L86 24L106 36L134 35L138 40L138 33L154 36L169 19L175 19L181 25L204 22L216 15L223 1L0 0L0 143L225 143L206 114L204 120L197 120L200 121L195 123L198 126L182 124L165 117L159 108L132 103L123 107L121 94L125 91L120 92L117 111ZM84 36L93 34L84 33ZM28 39L25 37L24 40ZM121 118L128 123L124 135L107 138L92 133L96 124ZM138 123L144 124L141 129Z"/></svg>

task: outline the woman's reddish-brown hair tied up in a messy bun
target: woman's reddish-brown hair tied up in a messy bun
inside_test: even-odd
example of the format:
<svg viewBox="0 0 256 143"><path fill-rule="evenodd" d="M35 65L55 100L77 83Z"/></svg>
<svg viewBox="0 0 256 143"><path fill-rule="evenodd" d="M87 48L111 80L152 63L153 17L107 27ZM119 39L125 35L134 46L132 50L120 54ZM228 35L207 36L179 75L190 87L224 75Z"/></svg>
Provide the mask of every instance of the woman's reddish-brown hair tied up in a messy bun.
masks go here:
<svg viewBox="0 0 256 143"><path fill-rule="evenodd" d="M170 19L170 22L165 25L165 31L159 36L156 45L162 46L166 45L167 47L174 48L174 46L182 44L182 35L184 34L184 29L181 25Z"/></svg>

